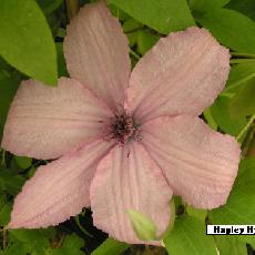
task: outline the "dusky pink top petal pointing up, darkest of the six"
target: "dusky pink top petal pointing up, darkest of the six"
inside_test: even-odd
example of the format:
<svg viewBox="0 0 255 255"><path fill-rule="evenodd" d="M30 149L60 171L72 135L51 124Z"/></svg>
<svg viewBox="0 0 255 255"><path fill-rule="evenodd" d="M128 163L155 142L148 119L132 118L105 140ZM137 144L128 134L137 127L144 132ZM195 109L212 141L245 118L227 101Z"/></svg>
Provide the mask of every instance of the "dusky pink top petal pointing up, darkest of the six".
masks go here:
<svg viewBox="0 0 255 255"><path fill-rule="evenodd" d="M111 109L123 105L131 70L128 40L103 2L86 4L71 21L64 54L72 78L103 98Z"/></svg>

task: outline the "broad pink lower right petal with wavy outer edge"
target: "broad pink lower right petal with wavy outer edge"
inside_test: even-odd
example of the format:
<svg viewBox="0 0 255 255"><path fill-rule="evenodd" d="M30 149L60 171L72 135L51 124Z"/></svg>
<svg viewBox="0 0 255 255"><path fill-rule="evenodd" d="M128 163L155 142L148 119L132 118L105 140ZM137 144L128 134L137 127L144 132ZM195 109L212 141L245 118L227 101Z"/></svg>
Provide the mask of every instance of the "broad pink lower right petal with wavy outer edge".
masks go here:
<svg viewBox="0 0 255 255"><path fill-rule="evenodd" d="M226 203L241 154L234 137L211 130L198 118L180 115L144 124L142 143L174 194L202 208Z"/></svg>

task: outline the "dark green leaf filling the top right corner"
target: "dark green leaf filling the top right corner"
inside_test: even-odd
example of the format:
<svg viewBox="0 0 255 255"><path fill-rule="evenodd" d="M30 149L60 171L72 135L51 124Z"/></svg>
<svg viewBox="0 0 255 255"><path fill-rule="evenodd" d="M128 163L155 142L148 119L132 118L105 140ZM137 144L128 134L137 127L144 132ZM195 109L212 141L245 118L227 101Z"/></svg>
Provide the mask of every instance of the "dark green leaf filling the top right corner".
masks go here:
<svg viewBox="0 0 255 255"><path fill-rule="evenodd" d="M255 21L254 0L231 0L226 8L242 12L243 14Z"/></svg>

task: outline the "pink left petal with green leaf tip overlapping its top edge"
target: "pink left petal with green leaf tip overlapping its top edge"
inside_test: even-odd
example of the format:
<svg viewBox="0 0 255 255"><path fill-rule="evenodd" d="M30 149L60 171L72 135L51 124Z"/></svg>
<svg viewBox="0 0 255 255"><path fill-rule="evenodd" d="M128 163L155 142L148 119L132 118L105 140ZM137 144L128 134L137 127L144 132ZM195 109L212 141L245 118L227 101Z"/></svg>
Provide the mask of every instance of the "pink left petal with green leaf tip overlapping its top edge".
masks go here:
<svg viewBox="0 0 255 255"><path fill-rule="evenodd" d="M22 82L12 102L1 146L18 155L55 159L100 135L111 112L78 81L62 78L58 88Z"/></svg>

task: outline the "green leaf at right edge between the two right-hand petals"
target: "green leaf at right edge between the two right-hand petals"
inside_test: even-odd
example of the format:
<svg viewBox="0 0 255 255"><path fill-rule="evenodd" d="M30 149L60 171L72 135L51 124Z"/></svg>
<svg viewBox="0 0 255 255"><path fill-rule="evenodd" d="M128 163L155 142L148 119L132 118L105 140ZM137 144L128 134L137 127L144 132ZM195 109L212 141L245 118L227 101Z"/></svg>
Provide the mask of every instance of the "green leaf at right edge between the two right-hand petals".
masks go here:
<svg viewBox="0 0 255 255"><path fill-rule="evenodd" d="M236 135L246 124L246 116L255 113L255 64L235 64L231 69L227 86L213 106L212 115L226 133ZM232 93L232 96L223 96Z"/></svg>

